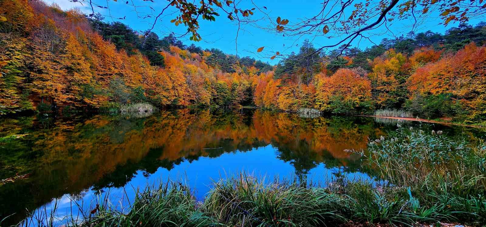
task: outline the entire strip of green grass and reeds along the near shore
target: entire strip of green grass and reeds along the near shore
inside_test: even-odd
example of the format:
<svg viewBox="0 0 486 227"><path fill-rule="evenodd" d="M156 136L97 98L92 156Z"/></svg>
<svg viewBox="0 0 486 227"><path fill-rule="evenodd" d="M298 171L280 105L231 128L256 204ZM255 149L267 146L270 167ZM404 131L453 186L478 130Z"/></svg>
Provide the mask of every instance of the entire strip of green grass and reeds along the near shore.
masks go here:
<svg viewBox="0 0 486 227"><path fill-rule="evenodd" d="M363 155L364 171L381 180L337 175L327 182L267 182L241 173L214 182L203 201L184 184L171 181L137 192L129 211L99 199L99 209L63 221L68 226L486 224L484 141L400 127L370 141L367 151L349 152Z"/></svg>

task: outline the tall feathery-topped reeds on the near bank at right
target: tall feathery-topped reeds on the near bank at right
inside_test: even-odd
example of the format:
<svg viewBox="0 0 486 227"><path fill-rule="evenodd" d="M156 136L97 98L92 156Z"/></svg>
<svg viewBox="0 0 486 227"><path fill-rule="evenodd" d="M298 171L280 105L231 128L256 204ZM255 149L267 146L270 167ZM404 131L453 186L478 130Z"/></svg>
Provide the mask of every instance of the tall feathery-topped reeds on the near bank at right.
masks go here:
<svg viewBox="0 0 486 227"><path fill-rule="evenodd" d="M486 143L451 139L442 131L404 128L370 141L364 167L408 189L420 221L486 223Z"/></svg>

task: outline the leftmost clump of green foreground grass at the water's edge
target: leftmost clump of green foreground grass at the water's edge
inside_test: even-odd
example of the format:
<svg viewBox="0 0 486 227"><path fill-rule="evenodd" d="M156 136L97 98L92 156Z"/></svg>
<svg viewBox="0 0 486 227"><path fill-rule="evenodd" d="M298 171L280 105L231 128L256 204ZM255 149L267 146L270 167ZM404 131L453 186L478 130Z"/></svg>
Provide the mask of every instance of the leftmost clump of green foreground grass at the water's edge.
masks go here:
<svg viewBox="0 0 486 227"><path fill-rule="evenodd" d="M97 199L89 210L83 210L82 215L56 217L51 215L33 214L31 220L44 223L37 226L215 226L214 217L206 215L199 207L189 188L176 182L160 185L148 185L143 191L137 191L135 199L129 207L121 208L108 199L109 194ZM79 204L76 203L78 208ZM128 210L128 211L125 211ZM43 216L44 215L44 216ZM40 216L40 217L39 217ZM32 225L32 221L31 221ZM34 224L35 225L35 224ZM20 224L19 226L22 226Z"/></svg>

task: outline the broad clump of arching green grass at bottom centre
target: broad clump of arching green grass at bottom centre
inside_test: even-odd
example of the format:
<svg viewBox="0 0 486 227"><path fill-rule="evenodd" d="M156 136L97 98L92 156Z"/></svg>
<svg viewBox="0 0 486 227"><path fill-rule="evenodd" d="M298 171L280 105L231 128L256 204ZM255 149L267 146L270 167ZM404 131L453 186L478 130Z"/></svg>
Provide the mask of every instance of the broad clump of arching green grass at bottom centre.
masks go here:
<svg viewBox="0 0 486 227"><path fill-rule="evenodd" d="M230 226L320 226L345 223L348 204L346 196L296 179L240 175L215 182L202 209Z"/></svg>

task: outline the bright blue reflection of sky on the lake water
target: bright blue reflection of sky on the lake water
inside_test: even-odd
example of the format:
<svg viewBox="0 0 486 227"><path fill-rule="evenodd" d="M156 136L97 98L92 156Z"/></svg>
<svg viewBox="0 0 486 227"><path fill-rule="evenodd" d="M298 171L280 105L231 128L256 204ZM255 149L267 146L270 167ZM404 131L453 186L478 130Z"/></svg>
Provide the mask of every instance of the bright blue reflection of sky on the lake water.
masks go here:
<svg viewBox="0 0 486 227"><path fill-rule="evenodd" d="M189 179L187 184L192 189L196 189L196 198L202 200L210 190L212 180L217 181L218 179L226 178L226 176L234 175L240 171L245 171L248 175L259 178L265 176L264 179L266 182L273 181L275 176L279 176L280 178L294 176L294 166L289 162L278 159L278 153L278 148L267 145L253 148L247 152L236 151L234 153L224 153L220 157L200 157L191 163L185 160L179 165L175 165L170 171L159 167L154 174L148 177L145 177L142 171L138 171L135 177L125 186L125 190L123 188L107 188L104 189L101 195L89 190L84 194L83 199L77 201L77 203L82 205L85 208L84 210L93 209L97 203L96 201L100 198L103 199L105 193L109 192L109 202L116 205L118 209L123 208L124 212L128 212L127 196L132 200L137 188L143 189L147 184L166 182L168 178L174 180ZM332 179L332 173L339 171L340 169L337 167L327 169L325 164L320 163L315 168L312 168L307 176L312 181L325 182ZM359 172L345 174L350 179L369 179L368 175ZM75 206L71 209L71 205L73 204L69 195L66 194L60 199L52 200L51 203L39 208L38 211L46 209L49 213L54 206L57 206L59 218L71 214L71 212L76 216L78 215L78 210ZM62 221L58 224L61 223Z"/></svg>

